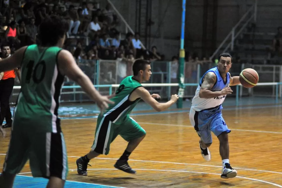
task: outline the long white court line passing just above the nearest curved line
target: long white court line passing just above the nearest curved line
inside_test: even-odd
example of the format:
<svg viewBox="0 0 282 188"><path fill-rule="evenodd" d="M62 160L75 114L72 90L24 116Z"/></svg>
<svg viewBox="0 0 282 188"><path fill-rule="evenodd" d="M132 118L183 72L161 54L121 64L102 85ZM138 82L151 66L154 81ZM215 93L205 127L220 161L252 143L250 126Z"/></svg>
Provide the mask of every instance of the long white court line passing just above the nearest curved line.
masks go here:
<svg viewBox="0 0 282 188"><path fill-rule="evenodd" d="M0 153L0 155L6 155L4 153ZM79 158L77 156L67 156L72 158ZM103 158L103 157L96 157L95 159L106 159L106 160L117 160L115 158ZM192 165L192 166L208 166L208 167L218 167L222 168L222 166L215 166L215 165L208 165L208 164L192 164L192 163L178 163L178 162L166 162L166 161L148 161L148 160L137 160L137 159L128 159L129 161L139 161L139 162L153 162L153 163L167 163L167 164L182 164L182 165ZM276 173L276 174L282 174L282 172L276 172L276 171L266 171L266 170L256 170L256 169L244 169L239 167L232 167L233 169L240 169L240 170L246 170L246 171L259 171L259 172L268 172L268 173Z"/></svg>

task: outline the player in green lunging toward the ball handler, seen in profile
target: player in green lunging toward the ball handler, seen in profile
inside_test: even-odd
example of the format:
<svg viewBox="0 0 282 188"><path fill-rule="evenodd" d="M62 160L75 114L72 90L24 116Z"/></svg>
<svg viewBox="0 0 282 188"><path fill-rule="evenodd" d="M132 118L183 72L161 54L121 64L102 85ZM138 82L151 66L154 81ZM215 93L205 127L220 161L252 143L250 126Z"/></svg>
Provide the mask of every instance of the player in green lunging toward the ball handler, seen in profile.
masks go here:
<svg viewBox="0 0 282 188"><path fill-rule="evenodd" d="M127 161L131 152L144 139L146 132L129 114L140 99L156 111L168 109L178 100L178 95L172 95L170 101L159 103L154 98L160 98L160 95L151 95L147 89L142 87L141 83L148 81L152 74L150 64L150 61L136 60L133 64L133 76L126 77L120 83L116 95L111 99L115 104L110 104L97 119L95 140L90 152L76 160L78 175L87 175L87 165L90 159L109 153L110 143L117 135L128 141L128 145L114 167L127 173L136 173Z"/></svg>

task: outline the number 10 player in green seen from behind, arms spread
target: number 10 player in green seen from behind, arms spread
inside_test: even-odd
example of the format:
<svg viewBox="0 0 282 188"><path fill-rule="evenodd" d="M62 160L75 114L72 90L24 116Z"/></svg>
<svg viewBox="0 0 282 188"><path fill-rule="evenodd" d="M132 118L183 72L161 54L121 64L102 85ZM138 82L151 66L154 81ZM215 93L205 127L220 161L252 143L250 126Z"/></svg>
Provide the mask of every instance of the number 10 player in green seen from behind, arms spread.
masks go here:
<svg viewBox="0 0 282 188"><path fill-rule="evenodd" d="M65 76L78 83L101 110L114 103L99 94L72 54L61 48L67 30L65 20L47 17L39 26L40 45L22 47L0 61L0 72L21 67L22 75L0 187L13 187L15 175L28 159L33 177L48 178L47 187L64 187L68 166L58 107Z"/></svg>

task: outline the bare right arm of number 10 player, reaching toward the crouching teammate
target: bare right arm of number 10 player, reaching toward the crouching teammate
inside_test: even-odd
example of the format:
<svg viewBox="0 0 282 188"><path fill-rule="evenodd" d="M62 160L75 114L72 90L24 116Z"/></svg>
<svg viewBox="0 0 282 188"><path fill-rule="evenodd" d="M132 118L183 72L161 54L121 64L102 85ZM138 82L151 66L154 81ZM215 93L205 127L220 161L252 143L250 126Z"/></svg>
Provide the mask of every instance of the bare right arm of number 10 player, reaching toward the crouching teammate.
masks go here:
<svg viewBox="0 0 282 188"><path fill-rule="evenodd" d="M89 77L85 75L76 64L72 54L67 50L61 50L58 55L58 68L61 74L66 75L69 79L75 81L81 86L82 90L89 95L89 97L97 102L97 105L102 110L108 107L108 103L113 104L108 97L102 96L93 86Z"/></svg>

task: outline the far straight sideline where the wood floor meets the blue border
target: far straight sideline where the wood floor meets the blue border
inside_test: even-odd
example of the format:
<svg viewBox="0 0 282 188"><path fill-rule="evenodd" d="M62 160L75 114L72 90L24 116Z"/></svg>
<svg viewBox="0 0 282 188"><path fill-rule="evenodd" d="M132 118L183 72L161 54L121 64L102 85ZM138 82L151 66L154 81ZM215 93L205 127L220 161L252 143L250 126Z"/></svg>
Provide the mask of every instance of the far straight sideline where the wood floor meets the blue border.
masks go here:
<svg viewBox="0 0 282 188"><path fill-rule="evenodd" d="M243 106L243 107L225 107L223 108L223 111L225 110L236 110L236 109L261 109L261 108L274 108L274 107L282 107L282 104L274 104L274 105L268 105L268 106ZM151 109L149 109L151 110ZM184 113L184 112L190 112L190 108L187 110L174 110L174 111L162 111L162 112L144 112L144 113L132 113L130 116L149 116L149 115L163 115L167 113ZM85 114L81 114L85 115ZM98 116L79 116L79 117L60 117L61 120L71 120L71 119L96 119Z"/></svg>

